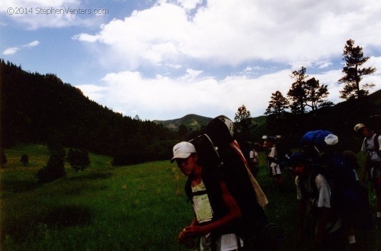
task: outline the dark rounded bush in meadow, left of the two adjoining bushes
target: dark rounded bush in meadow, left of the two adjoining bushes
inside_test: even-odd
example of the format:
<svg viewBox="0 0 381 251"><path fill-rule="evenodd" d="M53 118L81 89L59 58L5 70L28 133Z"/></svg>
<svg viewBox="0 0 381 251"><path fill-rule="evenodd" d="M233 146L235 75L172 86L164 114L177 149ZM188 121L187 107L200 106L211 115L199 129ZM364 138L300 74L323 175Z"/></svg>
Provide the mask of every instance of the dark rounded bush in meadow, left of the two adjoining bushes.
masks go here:
<svg viewBox="0 0 381 251"><path fill-rule="evenodd" d="M60 155L52 154L45 167L37 172L38 181L40 183L50 182L65 177L65 165Z"/></svg>

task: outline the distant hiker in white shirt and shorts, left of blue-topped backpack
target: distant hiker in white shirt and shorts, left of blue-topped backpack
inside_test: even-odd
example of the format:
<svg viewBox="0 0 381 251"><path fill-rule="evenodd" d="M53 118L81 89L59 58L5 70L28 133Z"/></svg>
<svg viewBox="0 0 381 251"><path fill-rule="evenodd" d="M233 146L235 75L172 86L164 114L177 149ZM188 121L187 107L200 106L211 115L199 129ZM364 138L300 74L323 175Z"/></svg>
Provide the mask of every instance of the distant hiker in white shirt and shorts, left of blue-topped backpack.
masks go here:
<svg viewBox="0 0 381 251"><path fill-rule="evenodd" d="M277 155L277 149L275 146L275 137L267 137L264 143L264 147L268 148L270 150L269 154L267 155L268 159L268 165L270 172L273 177L277 180L277 185L279 191L283 190L283 177L282 172L280 171L280 162Z"/></svg>

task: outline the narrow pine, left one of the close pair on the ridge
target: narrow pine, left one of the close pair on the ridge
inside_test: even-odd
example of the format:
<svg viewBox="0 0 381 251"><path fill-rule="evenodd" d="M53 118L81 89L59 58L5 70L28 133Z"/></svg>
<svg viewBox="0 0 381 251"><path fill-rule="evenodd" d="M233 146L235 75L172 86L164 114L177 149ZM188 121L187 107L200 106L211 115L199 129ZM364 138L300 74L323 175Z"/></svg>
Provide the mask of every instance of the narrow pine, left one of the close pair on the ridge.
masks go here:
<svg viewBox="0 0 381 251"><path fill-rule="evenodd" d="M308 77L306 68L302 67L299 71L293 71L291 78L295 79L287 96L290 100L290 108L293 113L303 114L305 112L306 103L306 91L305 91L305 79Z"/></svg>

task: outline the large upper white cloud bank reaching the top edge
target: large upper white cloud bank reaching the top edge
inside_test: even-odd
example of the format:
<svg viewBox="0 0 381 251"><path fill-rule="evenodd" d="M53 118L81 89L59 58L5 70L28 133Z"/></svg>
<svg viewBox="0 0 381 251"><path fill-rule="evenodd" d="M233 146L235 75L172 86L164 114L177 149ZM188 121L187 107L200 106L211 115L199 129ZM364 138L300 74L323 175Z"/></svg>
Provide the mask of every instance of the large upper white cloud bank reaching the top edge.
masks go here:
<svg viewBox="0 0 381 251"><path fill-rule="evenodd" d="M324 68L329 66L329 57L341 55L348 39L364 48L381 45L381 2L377 0L199 3L160 1L102 25L96 34L75 38L106 45L110 51L106 60L124 62L130 70L142 64L175 64L179 58L231 66L267 60L294 68L324 61L320 65ZM195 13L189 14L188 8L195 8Z"/></svg>

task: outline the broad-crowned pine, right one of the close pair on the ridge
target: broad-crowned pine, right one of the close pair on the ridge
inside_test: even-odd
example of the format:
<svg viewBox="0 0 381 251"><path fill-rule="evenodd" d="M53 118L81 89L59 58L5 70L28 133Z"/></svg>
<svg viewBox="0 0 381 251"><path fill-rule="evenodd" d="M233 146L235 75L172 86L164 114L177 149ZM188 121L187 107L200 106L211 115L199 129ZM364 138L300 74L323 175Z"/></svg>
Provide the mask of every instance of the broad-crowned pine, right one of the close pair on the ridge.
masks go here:
<svg viewBox="0 0 381 251"><path fill-rule="evenodd" d="M327 87L328 85L320 85L319 80L316 80L315 78L308 79L305 82L305 106L310 107L312 112L320 107L333 105L332 102L326 100L329 95Z"/></svg>

